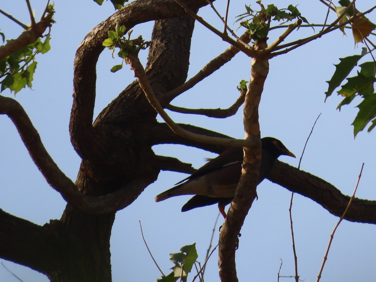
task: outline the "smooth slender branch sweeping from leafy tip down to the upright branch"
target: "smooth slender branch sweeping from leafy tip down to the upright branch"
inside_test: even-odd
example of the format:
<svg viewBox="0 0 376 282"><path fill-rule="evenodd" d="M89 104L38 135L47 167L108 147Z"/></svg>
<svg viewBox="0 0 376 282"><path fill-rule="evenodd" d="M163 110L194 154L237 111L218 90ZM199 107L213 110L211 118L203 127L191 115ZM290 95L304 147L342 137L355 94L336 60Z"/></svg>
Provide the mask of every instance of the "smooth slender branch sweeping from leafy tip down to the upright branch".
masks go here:
<svg viewBox="0 0 376 282"><path fill-rule="evenodd" d="M127 63L132 68L133 72L135 73L135 77L144 91L146 98L148 99L150 105L155 109L156 112L163 118L163 120L167 123L167 125L173 130L174 133L180 135L182 137L203 142L203 143L211 143L217 145L224 145L224 146L232 146L232 147L252 147L256 144L256 141L250 139L230 139L230 138L218 138L218 137L210 137L204 136L200 134L196 134L193 132L189 132L188 130L183 129L177 123L175 123L168 114L164 111L161 104L159 103L158 99L154 95L154 91L149 84L149 80L145 74L144 67L142 66L141 62L139 61L137 55L129 54L127 56Z"/></svg>

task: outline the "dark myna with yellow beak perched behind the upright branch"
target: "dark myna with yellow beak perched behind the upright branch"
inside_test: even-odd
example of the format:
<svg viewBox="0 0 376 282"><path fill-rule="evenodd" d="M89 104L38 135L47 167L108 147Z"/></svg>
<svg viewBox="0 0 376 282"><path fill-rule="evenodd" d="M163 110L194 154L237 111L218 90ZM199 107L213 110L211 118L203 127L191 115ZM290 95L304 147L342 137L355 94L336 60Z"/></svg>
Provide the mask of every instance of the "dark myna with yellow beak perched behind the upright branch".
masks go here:
<svg viewBox="0 0 376 282"><path fill-rule="evenodd" d="M279 156L286 155L296 158L276 138L262 138L261 144L261 166L258 184L267 177ZM218 203L221 214L226 218L224 207L231 202L235 195L235 188L241 176L242 163L242 147L227 149L193 174L176 183L177 186L156 196L155 201L160 202L180 195L195 195L182 207L182 211Z"/></svg>

